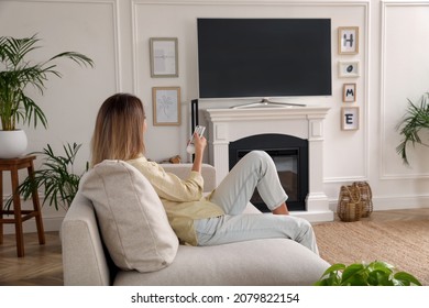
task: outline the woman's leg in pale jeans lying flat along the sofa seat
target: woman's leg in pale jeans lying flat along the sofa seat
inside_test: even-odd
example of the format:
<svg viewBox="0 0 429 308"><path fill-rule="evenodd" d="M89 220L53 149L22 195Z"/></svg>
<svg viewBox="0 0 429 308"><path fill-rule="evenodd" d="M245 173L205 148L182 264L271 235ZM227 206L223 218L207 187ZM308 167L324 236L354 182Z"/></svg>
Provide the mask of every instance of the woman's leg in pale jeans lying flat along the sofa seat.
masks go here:
<svg viewBox="0 0 429 308"><path fill-rule="evenodd" d="M222 216L196 220L195 230L201 246L283 238L319 253L311 224L298 217L272 213Z"/></svg>

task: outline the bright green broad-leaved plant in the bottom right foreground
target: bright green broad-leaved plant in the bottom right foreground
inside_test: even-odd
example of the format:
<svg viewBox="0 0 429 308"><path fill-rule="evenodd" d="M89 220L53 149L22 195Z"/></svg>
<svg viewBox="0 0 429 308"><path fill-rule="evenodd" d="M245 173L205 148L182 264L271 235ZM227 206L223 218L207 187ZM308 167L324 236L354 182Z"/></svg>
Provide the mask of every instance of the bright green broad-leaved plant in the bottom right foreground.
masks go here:
<svg viewBox="0 0 429 308"><path fill-rule="evenodd" d="M349 266L333 264L315 286L421 286L421 283L409 273L395 271L388 263L374 261Z"/></svg>

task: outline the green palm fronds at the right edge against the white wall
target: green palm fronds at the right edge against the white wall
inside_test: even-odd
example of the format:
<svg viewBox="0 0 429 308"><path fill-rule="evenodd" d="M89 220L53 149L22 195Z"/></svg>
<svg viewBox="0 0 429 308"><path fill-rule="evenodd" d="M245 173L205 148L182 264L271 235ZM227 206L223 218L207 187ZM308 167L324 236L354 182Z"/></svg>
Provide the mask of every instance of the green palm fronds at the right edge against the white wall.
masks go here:
<svg viewBox="0 0 429 308"><path fill-rule="evenodd" d="M421 144L429 146L420 139L420 131L429 129L429 92L421 96L419 103L414 103L408 99L408 109L399 124L397 130L403 136L402 142L396 147L396 152L403 158L406 165L409 165L407 156L407 146L411 143L413 146Z"/></svg>

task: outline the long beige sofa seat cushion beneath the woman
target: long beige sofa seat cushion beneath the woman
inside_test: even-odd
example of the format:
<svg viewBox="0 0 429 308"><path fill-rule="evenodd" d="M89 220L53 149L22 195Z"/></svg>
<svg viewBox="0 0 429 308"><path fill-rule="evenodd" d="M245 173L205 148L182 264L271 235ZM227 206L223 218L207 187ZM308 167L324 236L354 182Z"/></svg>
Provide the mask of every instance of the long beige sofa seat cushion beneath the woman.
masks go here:
<svg viewBox="0 0 429 308"><path fill-rule="evenodd" d="M170 266L152 273L121 271L113 284L310 286L329 266L316 253L288 239L262 239L216 246L180 245Z"/></svg>

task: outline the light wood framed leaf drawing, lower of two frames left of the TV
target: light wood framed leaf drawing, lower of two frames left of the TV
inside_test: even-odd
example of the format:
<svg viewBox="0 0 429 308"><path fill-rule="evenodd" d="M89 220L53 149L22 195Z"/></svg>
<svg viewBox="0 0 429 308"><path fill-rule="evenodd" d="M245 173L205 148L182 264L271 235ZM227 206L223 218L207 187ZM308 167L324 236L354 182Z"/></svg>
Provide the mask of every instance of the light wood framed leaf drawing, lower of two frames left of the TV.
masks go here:
<svg viewBox="0 0 429 308"><path fill-rule="evenodd" d="M153 124L180 125L180 88L153 87Z"/></svg>

